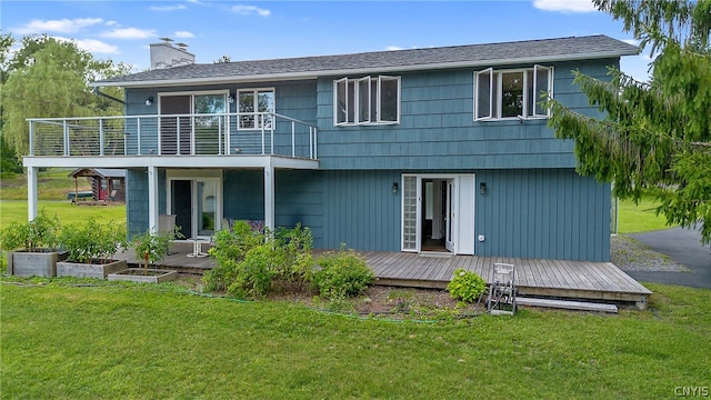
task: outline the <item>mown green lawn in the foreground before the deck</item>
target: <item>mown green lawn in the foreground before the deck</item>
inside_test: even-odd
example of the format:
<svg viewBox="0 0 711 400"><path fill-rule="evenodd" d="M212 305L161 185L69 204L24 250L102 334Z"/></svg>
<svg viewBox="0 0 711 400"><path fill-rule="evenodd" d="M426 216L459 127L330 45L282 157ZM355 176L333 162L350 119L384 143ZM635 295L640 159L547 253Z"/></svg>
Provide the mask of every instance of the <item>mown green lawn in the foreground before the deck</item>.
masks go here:
<svg viewBox="0 0 711 400"><path fill-rule="evenodd" d="M9 279L2 398L641 399L711 378L708 290L650 286L651 310L618 316L417 323L174 284Z"/></svg>

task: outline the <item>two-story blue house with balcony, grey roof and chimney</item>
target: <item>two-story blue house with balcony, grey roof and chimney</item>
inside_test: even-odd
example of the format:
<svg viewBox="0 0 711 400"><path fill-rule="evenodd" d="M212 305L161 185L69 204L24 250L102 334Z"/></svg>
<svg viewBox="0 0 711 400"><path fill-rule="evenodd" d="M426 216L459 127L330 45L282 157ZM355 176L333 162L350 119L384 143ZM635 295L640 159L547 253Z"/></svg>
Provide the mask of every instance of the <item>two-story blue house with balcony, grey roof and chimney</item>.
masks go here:
<svg viewBox="0 0 711 400"><path fill-rule="evenodd" d="M571 71L607 79L633 46L592 36L209 64L156 49L150 71L93 83L124 88L126 116L30 120L30 217L38 168L120 168L132 232L169 214L187 238L250 220L301 223L322 249L609 260L610 187L575 173L539 101L597 116Z"/></svg>

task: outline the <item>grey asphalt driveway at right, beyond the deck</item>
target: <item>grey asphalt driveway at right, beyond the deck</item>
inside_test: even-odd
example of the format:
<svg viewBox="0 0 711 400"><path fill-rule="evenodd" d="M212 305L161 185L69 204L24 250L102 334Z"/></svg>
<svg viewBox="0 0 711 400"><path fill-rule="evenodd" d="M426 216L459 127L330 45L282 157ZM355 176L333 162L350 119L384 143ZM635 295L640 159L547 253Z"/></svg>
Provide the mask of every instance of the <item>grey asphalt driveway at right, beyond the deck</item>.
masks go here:
<svg viewBox="0 0 711 400"><path fill-rule="evenodd" d="M671 228L628 236L691 270L691 272L629 271L627 273L630 277L642 282L711 289L711 248L701 244L699 230Z"/></svg>

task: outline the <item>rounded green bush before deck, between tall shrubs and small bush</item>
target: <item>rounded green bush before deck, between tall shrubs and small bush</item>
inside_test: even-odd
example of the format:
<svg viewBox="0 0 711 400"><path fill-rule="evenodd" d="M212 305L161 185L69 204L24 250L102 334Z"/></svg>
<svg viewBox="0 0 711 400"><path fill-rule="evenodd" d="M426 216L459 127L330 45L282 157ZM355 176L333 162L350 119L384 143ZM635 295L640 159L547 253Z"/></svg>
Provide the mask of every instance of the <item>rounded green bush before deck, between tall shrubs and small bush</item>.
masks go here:
<svg viewBox="0 0 711 400"><path fill-rule="evenodd" d="M313 274L313 283L321 296L342 299L368 289L375 276L353 250L341 248L338 252L327 252L319 257L320 270Z"/></svg>

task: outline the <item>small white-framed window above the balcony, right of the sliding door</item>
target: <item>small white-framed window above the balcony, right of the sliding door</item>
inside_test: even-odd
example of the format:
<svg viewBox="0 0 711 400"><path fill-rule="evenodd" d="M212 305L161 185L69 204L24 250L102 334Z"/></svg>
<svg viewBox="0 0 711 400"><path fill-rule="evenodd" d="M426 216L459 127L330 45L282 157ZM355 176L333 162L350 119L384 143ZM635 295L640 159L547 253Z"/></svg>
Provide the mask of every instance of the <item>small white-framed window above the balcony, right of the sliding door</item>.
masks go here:
<svg viewBox="0 0 711 400"><path fill-rule="evenodd" d="M239 129L271 129L274 112L274 89L239 89L237 91ZM263 122L263 124L262 124Z"/></svg>

